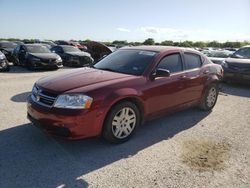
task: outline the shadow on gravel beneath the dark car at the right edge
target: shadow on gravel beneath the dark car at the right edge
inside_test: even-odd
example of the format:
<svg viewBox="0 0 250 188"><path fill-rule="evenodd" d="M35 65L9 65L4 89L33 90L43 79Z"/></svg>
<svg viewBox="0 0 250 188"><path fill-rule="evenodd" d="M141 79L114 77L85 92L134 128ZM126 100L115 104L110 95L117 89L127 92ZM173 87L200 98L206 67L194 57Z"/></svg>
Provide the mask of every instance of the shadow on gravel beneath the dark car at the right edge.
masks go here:
<svg viewBox="0 0 250 188"><path fill-rule="evenodd" d="M224 95L235 95L250 98L250 85L222 84L221 93Z"/></svg>

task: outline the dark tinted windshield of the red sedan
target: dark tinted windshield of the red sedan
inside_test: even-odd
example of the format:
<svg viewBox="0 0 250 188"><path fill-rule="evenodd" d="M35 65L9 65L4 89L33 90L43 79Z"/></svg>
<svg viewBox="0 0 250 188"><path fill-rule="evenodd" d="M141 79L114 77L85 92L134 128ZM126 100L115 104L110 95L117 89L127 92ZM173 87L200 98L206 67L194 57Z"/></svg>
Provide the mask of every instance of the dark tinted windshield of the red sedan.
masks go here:
<svg viewBox="0 0 250 188"><path fill-rule="evenodd" d="M94 68L131 75L142 75L153 61L156 52L118 50L94 65Z"/></svg>

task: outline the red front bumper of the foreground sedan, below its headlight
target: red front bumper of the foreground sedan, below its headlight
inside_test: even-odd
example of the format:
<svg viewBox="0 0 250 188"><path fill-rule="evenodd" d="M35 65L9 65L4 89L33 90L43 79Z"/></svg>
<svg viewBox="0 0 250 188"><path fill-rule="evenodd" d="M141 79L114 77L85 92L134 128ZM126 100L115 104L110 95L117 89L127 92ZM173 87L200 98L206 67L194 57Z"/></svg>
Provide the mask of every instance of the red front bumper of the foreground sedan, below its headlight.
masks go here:
<svg viewBox="0 0 250 188"><path fill-rule="evenodd" d="M27 100L27 117L36 126L55 136L82 139L101 134L103 116L98 110L49 108Z"/></svg>

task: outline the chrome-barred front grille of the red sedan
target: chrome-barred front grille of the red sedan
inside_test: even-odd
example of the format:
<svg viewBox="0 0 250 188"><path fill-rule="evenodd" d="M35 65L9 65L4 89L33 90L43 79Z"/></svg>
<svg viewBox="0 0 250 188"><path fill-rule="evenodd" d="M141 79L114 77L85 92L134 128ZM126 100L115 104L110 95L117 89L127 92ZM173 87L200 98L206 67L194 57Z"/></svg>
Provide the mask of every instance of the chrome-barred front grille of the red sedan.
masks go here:
<svg viewBox="0 0 250 188"><path fill-rule="evenodd" d="M42 106L52 107L56 100L56 97L57 95L44 91L37 86L34 86L34 89L32 91L33 101Z"/></svg>

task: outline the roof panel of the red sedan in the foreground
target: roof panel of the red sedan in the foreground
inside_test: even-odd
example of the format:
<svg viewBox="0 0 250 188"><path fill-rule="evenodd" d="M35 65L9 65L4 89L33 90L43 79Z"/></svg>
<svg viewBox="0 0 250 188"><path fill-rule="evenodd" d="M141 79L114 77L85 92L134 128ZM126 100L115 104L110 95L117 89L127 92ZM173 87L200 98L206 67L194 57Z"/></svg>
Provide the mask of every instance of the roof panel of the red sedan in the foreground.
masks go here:
<svg viewBox="0 0 250 188"><path fill-rule="evenodd" d="M168 50L188 50L193 52L198 52L197 50L191 48L175 47L175 46L134 46L134 47L123 47L123 50L145 50L145 51L154 51L154 52L165 52Z"/></svg>

